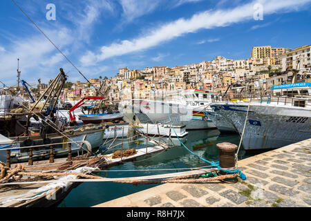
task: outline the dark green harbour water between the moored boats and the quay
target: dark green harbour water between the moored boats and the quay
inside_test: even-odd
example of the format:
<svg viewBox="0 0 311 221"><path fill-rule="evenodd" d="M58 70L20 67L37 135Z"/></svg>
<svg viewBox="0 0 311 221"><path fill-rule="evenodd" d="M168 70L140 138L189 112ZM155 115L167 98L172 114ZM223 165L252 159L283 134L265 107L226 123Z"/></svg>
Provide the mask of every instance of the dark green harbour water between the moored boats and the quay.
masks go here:
<svg viewBox="0 0 311 221"><path fill-rule="evenodd" d="M188 131L185 145L196 155L209 161L218 161L218 148L216 144L231 142L238 145L237 134L220 134L217 130ZM124 146L124 148L126 148ZM246 152L243 148L238 153L238 159L244 159L264 151ZM178 169L195 166L206 166L207 163L199 160L182 146L176 146L162 153L155 153L147 157L139 157L136 162L115 166L109 172L97 173L102 177L134 177L144 175L156 175L163 173L180 172ZM176 169L172 171L138 171L154 169ZM124 170L124 171L119 171ZM135 170L135 171L126 171ZM59 204L59 207L88 207L120 198L124 195L143 191L159 184L120 184L113 182L84 182L73 189Z"/></svg>

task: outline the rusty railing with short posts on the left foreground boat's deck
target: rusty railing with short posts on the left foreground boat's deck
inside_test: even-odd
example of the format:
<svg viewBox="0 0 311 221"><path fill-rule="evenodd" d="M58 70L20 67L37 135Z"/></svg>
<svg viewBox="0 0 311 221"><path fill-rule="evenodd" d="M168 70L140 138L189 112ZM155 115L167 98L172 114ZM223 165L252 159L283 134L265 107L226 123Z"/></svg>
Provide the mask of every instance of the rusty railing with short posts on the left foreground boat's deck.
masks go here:
<svg viewBox="0 0 311 221"><path fill-rule="evenodd" d="M0 151L7 151L7 153L6 153L6 166L10 167L10 165L11 165L11 151L16 150L16 149L28 148L29 149L28 165L32 166L33 163L35 162L34 157L33 157L33 153L32 153L34 148L43 149L46 146L50 146L50 159L49 160L50 160L50 163L54 163L55 162L55 153L54 153L55 146L56 145L68 144L67 161L71 161L72 160L71 146L73 143L75 143L75 144L82 143L82 145L85 144L88 151L92 150L92 146L91 146L90 142L88 142L86 140L82 140L82 141L59 142L59 143L53 143L53 144L40 144L40 145L34 145L34 146L18 146L18 147L13 146L13 144L9 144L8 146L4 146L4 147L0 148ZM83 150L84 148L82 147L82 145L80 146L80 148Z"/></svg>

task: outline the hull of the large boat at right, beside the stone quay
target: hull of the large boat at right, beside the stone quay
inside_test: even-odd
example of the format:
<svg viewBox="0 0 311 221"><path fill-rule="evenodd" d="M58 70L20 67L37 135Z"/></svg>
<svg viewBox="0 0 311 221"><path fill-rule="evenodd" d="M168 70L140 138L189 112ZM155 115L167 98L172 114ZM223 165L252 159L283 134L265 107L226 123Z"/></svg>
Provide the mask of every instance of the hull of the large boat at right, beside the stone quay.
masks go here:
<svg viewBox="0 0 311 221"><path fill-rule="evenodd" d="M242 135L247 105L212 104ZM243 135L245 150L279 148L311 137L311 111L299 107L251 105Z"/></svg>

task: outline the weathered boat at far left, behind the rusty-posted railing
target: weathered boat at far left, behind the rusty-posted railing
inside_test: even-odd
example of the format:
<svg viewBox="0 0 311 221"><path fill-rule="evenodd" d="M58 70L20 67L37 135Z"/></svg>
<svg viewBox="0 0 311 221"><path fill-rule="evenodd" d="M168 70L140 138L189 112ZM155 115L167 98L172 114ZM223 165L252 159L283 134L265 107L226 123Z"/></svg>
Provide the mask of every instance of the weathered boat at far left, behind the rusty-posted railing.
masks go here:
<svg viewBox="0 0 311 221"><path fill-rule="evenodd" d="M50 157L50 147L53 146L55 157L68 155L68 142L73 154L81 153L83 148L82 141L87 141L92 148L98 148L104 138L105 127L99 124L85 125L79 127L66 128L62 133L48 133L42 137L39 133L30 133L29 136L20 137L0 137L0 160L6 159L6 151L1 148L14 148L10 152L11 162L27 162L30 150L27 146L37 146L32 150L34 160L44 160ZM91 150L88 150L91 151ZM87 151L84 150L84 153ZM4 160L5 161L5 160Z"/></svg>

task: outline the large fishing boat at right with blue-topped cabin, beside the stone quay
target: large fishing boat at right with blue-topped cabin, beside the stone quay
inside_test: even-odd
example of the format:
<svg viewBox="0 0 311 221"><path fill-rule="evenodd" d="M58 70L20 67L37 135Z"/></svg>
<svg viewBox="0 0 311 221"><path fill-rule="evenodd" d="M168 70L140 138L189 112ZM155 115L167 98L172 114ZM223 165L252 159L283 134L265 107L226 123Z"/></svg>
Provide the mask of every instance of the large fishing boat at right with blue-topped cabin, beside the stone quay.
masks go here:
<svg viewBox="0 0 311 221"><path fill-rule="evenodd" d="M272 87L273 96L252 102L216 102L214 111L243 134L245 150L279 148L311 137L311 84Z"/></svg>

